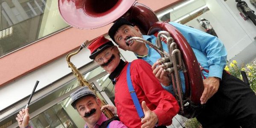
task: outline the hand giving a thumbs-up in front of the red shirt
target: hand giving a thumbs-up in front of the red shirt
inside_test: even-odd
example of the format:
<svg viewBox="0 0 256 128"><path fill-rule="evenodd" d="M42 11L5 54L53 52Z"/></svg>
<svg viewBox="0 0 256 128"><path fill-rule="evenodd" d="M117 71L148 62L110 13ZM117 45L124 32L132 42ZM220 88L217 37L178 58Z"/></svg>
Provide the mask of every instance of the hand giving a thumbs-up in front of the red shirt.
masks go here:
<svg viewBox="0 0 256 128"><path fill-rule="evenodd" d="M141 106L145 117L141 120L140 128L154 128L158 122L157 115L148 108L145 101L141 103Z"/></svg>

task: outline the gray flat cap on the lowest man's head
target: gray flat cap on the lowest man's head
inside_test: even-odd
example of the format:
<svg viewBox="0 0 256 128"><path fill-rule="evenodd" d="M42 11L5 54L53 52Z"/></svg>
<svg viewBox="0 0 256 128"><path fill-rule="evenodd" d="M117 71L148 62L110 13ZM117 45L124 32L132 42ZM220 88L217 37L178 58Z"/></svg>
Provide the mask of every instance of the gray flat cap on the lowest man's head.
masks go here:
<svg viewBox="0 0 256 128"><path fill-rule="evenodd" d="M81 87L81 88L79 88L79 90L76 90L75 92L73 92L70 95L71 105L73 106L73 108L76 109L76 102L79 99L84 98L85 96L95 96L96 97L96 95L93 93L93 91L91 91L89 89L89 87L87 87L87 86Z"/></svg>

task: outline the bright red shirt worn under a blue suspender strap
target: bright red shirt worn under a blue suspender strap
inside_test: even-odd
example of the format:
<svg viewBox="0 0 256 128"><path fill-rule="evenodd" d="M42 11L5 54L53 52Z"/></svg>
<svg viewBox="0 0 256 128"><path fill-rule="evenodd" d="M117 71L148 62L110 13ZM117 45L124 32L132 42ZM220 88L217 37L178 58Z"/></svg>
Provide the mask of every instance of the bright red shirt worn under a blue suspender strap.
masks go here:
<svg viewBox="0 0 256 128"><path fill-rule="evenodd" d="M128 91L126 71L128 62L116 77L115 105L121 122L128 128L140 128L141 120ZM164 90L152 73L151 66L144 60L131 63L131 81L139 99L146 102L148 108L156 113L158 125L171 125L172 118L178 113L179 106L171 93Z"/></svg>

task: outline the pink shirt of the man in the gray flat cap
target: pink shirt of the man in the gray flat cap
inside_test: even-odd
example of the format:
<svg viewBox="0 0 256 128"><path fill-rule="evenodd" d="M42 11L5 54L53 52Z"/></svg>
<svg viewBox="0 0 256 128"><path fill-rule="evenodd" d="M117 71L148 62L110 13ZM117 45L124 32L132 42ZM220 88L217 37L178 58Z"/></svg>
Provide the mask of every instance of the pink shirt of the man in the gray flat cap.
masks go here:
<svg viewBox="0 0 256 128"><path fill-rule="evenodd" d="M96 122L93 128L99 128L102 122L106 120L108 120L108 118L104 115L104 113L102 113L99 120ZM89 127L85 124L84 128L89 128ZM109 128L127 128L127 127L122 122L118 120L113 120L109 123Z"/></svg>

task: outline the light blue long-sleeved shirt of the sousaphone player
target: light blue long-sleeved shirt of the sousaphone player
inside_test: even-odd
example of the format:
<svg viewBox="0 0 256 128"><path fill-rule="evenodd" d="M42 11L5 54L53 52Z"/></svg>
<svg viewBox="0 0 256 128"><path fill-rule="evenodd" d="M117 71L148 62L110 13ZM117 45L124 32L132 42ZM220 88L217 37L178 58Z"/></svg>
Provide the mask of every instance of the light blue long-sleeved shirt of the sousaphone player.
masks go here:
<svg viewBox="0 0 256 128"><path fill-rule="evenodd" d="M209 70L209 73L204 70L202 73L205 77L218 77L222 78L222 71L226 66L227 60L227 51L224 47L224 44L215 36L209 35L206 32L201 32L197 29L193 29L189 26L185 26L179 23L169 22L176 29L180 31L180 33L184 36L186 41L192 47L192 50L195 53L195 56L201 66ZM154 35L143 35L143 38L153 44L156 43L156 37ZM163 44L163 49L168 52L167 45ZM159 58L161 58L160 54L154 50L153 48L148 48L148 55L142 57L143 60L147 61L149 64L154 64ZM137 55L139 58L139 55ZM203 76L202 76L203 77ZM183 92L185 92L185 81L184 75L180 71L180 80L183 88ZM172 86L165 87L164 89L172 92Z"/></svg>

